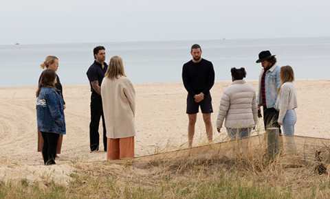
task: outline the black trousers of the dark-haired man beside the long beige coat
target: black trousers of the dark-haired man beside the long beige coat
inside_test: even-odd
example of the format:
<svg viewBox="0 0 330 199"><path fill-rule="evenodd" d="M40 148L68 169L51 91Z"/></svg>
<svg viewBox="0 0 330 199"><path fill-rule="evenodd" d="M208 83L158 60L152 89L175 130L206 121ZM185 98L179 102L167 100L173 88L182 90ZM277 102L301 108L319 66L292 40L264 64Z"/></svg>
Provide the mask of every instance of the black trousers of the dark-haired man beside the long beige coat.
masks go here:
<svg viewBox="0 0 330 199"><path fill-rule="evenodd" d="M100 126L100 119L102 117L103 126L103 146L104 151L107 151L107 130L104 123L104 115L102 108L102 98L95 93L91 94L91 123L89 124L89 141L91 151L98 150L100 145L100 134L98 127Z"/></svg>

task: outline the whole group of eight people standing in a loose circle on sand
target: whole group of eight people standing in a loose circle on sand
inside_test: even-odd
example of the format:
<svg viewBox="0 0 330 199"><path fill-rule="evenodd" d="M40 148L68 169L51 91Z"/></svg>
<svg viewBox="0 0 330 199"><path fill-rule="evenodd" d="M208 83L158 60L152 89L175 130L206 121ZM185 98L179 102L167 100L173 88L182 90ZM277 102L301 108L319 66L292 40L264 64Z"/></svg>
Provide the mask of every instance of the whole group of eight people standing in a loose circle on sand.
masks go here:
<svg viewBox="0 0 330 199"><path fill-rule="evenodd" d="M201 58L201 47L192 45L192 60L182 69L182 80L188 91L186 113L188 114L188 146L192 147L195 123L199 107L203 113L208 141L212 142L211 114L214 85L212 62ZM91 86L91 121L89 124L90 150L99 150L99 125L102 118L103 146L107 160L126 159L134 156L135 137L135 89L124 72L122 58L113 56L109 65L105 62L105 48L94 48L94 63L87 71ZM255 128L263 108L265 128L283 126L283 134L294 135L296 124L296 90L292 67L278 67L270 51L262 51L259 60L263 70L259 78L259 95L245 82L244 68L231 69L232 84L221 97L217 117L217 131L221 132L223 121L231 139L248 137ZM47 56L41 65L44 69L36 91L38 124L38 150L43 154L45 165L55 164L61 154L65 128L65 101L63 87L56 74L58 58Z"/></svg>

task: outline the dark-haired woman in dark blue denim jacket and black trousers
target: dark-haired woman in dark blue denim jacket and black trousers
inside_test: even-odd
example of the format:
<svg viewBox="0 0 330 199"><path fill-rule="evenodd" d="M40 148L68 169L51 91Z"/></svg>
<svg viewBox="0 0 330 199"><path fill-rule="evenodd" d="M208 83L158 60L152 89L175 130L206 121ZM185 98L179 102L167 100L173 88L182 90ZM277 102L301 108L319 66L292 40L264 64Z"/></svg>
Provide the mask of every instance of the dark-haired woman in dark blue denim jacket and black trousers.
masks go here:
<svg viewBox="0 0 330 199"><path fill-rule="evenodd" d="M63 98L55 89L56 73L46 69L36 91L36 118L38 130L43 136L43 161L54 165L56 145L60 134L65 134Z"/></svg>

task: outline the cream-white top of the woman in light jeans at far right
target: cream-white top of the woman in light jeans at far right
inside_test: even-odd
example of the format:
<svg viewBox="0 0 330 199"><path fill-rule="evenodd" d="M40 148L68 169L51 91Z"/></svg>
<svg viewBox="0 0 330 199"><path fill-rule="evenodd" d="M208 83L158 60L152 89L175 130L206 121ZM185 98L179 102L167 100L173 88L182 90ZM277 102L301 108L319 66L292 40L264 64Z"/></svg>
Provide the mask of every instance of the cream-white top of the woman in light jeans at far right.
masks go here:
<svg viewBox="0 0 330 199"><path fill-rule="evenodd" d="M278 122L283 123L287 110L293 110L297 107L297 94L294 84L292 82L285 82L281 86L281 90L276 101L276 109L280 111Z"/></svg>

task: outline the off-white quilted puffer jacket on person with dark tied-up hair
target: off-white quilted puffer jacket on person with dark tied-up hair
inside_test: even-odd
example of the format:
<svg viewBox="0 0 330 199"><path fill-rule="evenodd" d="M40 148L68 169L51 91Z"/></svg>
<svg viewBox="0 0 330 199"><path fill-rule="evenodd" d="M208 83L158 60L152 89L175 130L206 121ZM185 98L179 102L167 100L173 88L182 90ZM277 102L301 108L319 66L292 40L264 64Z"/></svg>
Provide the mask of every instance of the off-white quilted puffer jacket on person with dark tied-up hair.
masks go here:
<svg viewBox="0 0 330 199"><path fill-rule="evenodd" d="M236 80L221 97L217 128L253 128L258 122L256 91L245 80Z"/></svg>

